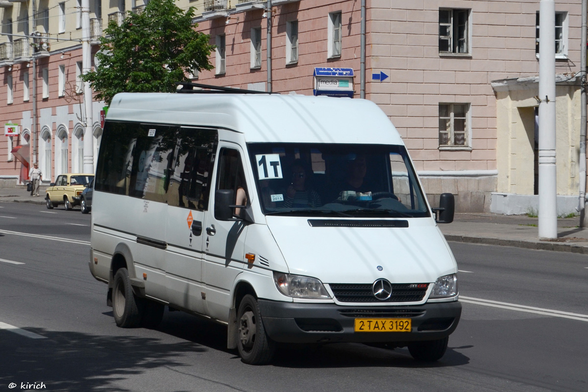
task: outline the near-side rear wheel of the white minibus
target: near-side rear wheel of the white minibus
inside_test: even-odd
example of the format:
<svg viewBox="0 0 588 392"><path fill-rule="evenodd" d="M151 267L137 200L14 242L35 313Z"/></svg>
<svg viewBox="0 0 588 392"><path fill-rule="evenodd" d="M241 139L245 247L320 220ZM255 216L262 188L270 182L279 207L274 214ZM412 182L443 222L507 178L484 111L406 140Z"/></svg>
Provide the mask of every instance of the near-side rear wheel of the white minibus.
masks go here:
<svg viewBox="0 0 588 392"><path fill-rule="evenodd" d="M133 293L126 268L116 271L112 289L112 313L117 326L134 328L141 325L141 300Z"/></svg>

